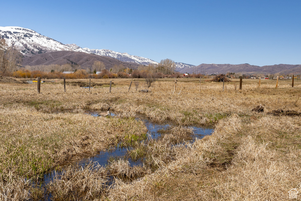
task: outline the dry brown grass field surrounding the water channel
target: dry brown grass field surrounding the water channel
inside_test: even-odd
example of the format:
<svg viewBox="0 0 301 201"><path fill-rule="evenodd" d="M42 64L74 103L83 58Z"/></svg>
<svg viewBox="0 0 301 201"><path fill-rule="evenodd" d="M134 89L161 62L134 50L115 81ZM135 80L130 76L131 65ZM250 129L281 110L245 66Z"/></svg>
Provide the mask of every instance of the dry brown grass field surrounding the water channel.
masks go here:
<svg viewBox="0 0 301 201"><path fill-rule="evenodd" d="M145 89L139 80L138 91ZM138 92L134 79L92 79L88 89L62 80L36 84L0 83L0 200L288 200L301 192L301 81L239 80L225 83L202 79L159 79L149 93ZM95 86L96 84L96 86ZM88 85L87 85L88 86ZM264 112L251 111L258 105ZM86 111L119 112L94 117ZM274 110L295 115L273 115ZM178 125L158 141L135 144L147 132L135 115ZM211 126L210 136L171 147L173 136L189 133L182 126ZM183 134L184 133L184 134ZM73 168L120 141L148 154L156 169L129 167ZM139 151L140 150L140 151ZM69 164L69 166L68 166ZM67 165L67 166L66 166ZM45 189L33 181L65 168ZM131 182L116 177L104 186L106 174L143 176ZM130 177L130 176L129 176ZM298 199L301 196L298 194Z"/></svg>

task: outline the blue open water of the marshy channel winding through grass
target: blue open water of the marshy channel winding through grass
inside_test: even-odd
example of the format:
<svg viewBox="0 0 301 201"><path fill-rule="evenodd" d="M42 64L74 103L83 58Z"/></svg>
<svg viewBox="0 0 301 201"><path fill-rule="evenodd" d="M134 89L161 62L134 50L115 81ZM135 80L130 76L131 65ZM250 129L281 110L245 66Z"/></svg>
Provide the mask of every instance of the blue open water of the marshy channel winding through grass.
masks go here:
<svg viewBox="0 0 301 201"><path fill-rule="evenodd" d="M98 112L87 112L87 115L92 115L95 118L98 118ZM119 114L118 113L113 113L110 112L110 115L113 118L118 118ZM147 139L157 139L158 137L161 136L161 132L160 130L166 130L168 129L170 126L175 126L174 124L172 124L172 122L167 122L164 124L158 124L158 123L154 123L152 122L149 118L143 116L143 115L136 115L135 118L137 121L143 121L146 128L147 128ZM199 126L188 126L188 128L192 128L193 132L191 134L191 142L195 141L196 139L201 139L206 135L210 135L213 132L212 128L204 128L204 127L199 127ZM122 147L120 146L120 143L117 144L116 147L114 148L110 148L107 149L106 151L101 151L99 152L99 154L93 156L93 157L87 157L82 159L79 162L79 165L81 165L82 167L84 167L86 164L91 163L91 162L97 162L99 165L103 165L106 166L108 165L108 161L110 158L115 158L115 159L124 159L129 161L129 164L131 167L133 166L137 166L137 165L143 165L143 159L138 159L138 160L132 160L131 157L129 157L128 154L128 150L132 149L131 147ZM48 174L44 175L44 185L47 185L50 181L54 180L54 177L56 174L61 174L61 172L57 172L55 170L51 171Z"/></svg>

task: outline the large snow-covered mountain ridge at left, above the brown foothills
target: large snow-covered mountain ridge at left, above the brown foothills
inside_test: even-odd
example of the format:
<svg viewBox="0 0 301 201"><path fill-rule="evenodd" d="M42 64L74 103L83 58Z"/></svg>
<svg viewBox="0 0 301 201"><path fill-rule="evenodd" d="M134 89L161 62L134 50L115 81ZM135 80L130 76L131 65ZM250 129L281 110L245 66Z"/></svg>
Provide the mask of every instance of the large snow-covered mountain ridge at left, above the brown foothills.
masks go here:
<svg viewBox="0 0 301 201"><path fill-rule="evenodd" d="M69 50L76 52L85 52L101 56L109 56L120 61L135 62L138 64L148 65L157 64L149 58L129 55L107 49L89 49L81 48L76 44L63 44L47 36L43 36L33 30L22 27L0 27L0 39L5 39L6 43L18 47L24 56L36 55L46 52Z"/></svg>

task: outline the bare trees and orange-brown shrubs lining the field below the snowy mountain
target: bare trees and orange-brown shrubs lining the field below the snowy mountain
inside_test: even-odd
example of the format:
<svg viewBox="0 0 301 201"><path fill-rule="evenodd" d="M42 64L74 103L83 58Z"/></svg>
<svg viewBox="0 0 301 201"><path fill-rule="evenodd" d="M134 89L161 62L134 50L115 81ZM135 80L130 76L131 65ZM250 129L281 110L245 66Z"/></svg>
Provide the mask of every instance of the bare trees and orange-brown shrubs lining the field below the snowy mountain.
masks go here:
<svg viewBox="0 0 301 201"><path fill-rule="evenodd" d="M23 55L20 49L14 44L10 46L5 39L0 40L0 74L19 78L34 78L37 75L44 78L60 78L64 76L64 71L77 71L77 74L67 77L95 77L95 78L145 78L152 75L153 77L179 77L181 73L175 72L175 62L172 59L163 59L159 64L141 65L138 69L133 70L125 68L122 64L114 65L113 68L106 70L106 66L101 61L95 61L90 68L85 70L81 66L69 61L63 65L36 65L36 66L21 66ZM98 75L97 71L101 71ZM92 74L92 75L90 75ZM77 76L76 76L77 75Z"/></svg>

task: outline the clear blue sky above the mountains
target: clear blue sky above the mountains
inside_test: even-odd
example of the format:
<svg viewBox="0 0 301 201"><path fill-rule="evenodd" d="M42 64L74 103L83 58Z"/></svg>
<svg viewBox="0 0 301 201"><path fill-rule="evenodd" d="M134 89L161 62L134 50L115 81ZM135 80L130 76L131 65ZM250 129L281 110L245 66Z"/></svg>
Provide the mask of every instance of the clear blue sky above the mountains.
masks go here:
<svg viewBox="0 0 301 201"><path fill-rule="evenodd" d="M0 26L160 62L301 64L301 1L2 1Z"/></svg>

